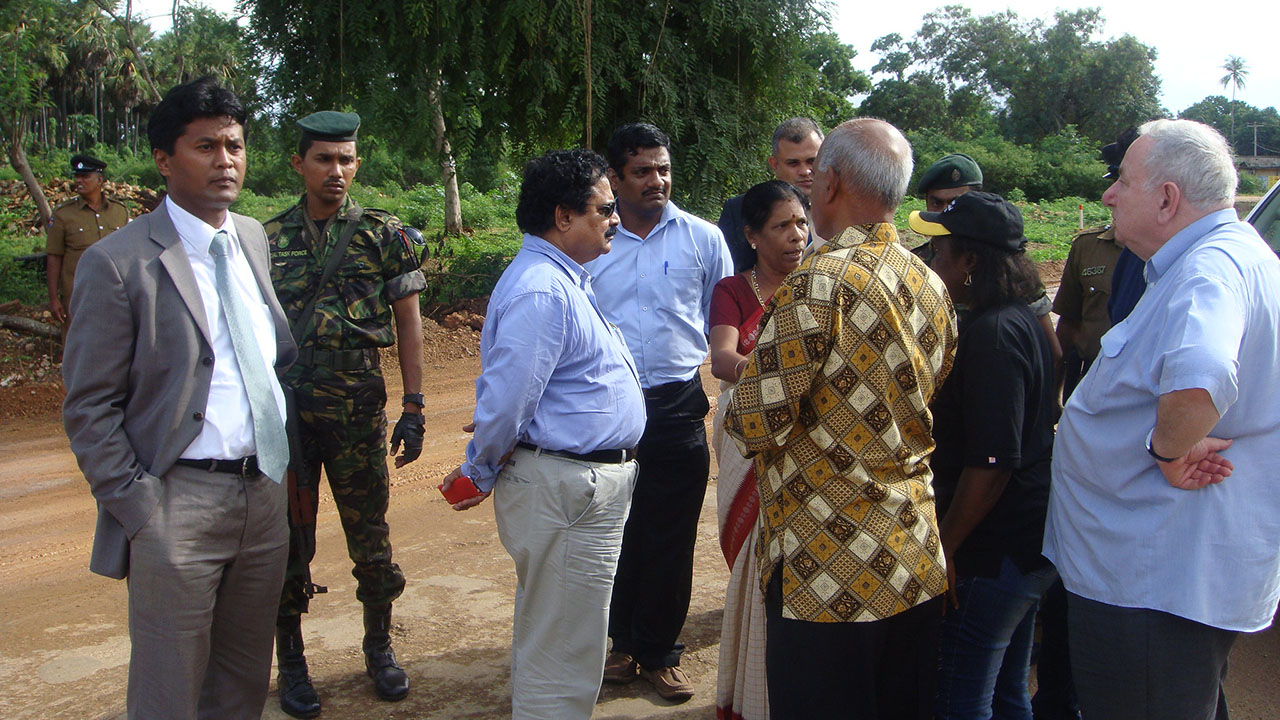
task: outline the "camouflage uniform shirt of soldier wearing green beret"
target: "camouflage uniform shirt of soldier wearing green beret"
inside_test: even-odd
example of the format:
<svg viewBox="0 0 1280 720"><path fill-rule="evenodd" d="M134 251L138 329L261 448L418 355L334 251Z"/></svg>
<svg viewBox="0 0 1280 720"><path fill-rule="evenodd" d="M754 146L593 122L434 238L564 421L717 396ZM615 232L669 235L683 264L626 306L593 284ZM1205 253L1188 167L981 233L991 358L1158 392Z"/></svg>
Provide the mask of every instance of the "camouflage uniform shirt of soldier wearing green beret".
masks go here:
<svg viewBox="0 0 1280 720"><path fill-rule="evenodd" d="M352 208L348 196L338 219L324 238L324 247L311 247L303 213L306 196L297 205L265 223L271 252L271 284L289 319L298 318L316 292L329 252L338 243ZM415 246L401 229L396 215L384 210L360 210L360 228L347 246L338 272L316 301L314 319L300 348L364 350L396 342L392 302L426 287ZM317 228L324 228L317 222Z"/></svg>

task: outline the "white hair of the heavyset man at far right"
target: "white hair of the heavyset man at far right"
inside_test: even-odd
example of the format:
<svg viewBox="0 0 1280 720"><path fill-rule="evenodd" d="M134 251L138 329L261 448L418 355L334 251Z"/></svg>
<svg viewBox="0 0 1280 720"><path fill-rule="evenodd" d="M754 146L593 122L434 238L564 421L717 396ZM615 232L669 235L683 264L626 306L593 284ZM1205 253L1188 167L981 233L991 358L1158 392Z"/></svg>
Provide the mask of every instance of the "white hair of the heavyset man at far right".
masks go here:
<svg viewBox="0 0 1280 720"><path fill-rule="evenodd" d="M1151 138L1148 190L1171 182L1192 206L1204 210L1235 202L1235 163L1220 132L1196 120L1151 120L1138 135Z"/></svg>

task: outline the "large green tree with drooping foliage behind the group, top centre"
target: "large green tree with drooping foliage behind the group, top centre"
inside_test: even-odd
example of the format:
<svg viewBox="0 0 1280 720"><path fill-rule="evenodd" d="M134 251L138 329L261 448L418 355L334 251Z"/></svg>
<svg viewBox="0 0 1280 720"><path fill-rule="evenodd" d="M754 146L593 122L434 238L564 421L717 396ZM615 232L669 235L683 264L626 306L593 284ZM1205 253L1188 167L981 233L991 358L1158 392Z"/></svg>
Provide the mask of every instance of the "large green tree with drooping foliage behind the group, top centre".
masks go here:
<svg viewBox="0 0 1280 720"><path fill-rule="evenodd" d="M442 137L465 169L581 145L586 128L603 149L648 120L704 211L764 172L744 149L765 149L780 120L844 119L867 87L815 0L257 0L251 23L289 117L352 108L397 151L438 158L442 178Z"/></svg>

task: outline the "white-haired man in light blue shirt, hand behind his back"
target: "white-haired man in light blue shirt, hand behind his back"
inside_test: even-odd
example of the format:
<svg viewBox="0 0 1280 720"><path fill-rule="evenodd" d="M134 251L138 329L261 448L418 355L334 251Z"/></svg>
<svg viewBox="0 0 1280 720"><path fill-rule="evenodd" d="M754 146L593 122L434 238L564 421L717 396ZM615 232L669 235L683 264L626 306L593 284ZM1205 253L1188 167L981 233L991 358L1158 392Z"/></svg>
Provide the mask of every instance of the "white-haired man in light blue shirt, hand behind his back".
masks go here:
<svg viewBox="0 0 1280 720"><path fill-rule="evenodd" d="M1147 290L1062 414L1044 528L1089 720L1225 719L1280 600L1280 260L1235 184L1220 135L1156 120L1103 195Z"/></svg>

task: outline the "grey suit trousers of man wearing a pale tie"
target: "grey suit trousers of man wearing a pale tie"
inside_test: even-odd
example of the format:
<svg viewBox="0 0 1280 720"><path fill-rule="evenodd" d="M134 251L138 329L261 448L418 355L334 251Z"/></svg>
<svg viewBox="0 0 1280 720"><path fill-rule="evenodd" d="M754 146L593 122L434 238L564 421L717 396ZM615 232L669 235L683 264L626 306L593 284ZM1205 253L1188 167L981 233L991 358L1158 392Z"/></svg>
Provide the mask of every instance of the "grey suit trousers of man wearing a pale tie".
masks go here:
<svg viewBox="0 0 1280 720"><path fill-rule="evenodd" d="M289 550L285 488L175 466L129 543L128 716L257 719Z"/></svg>

